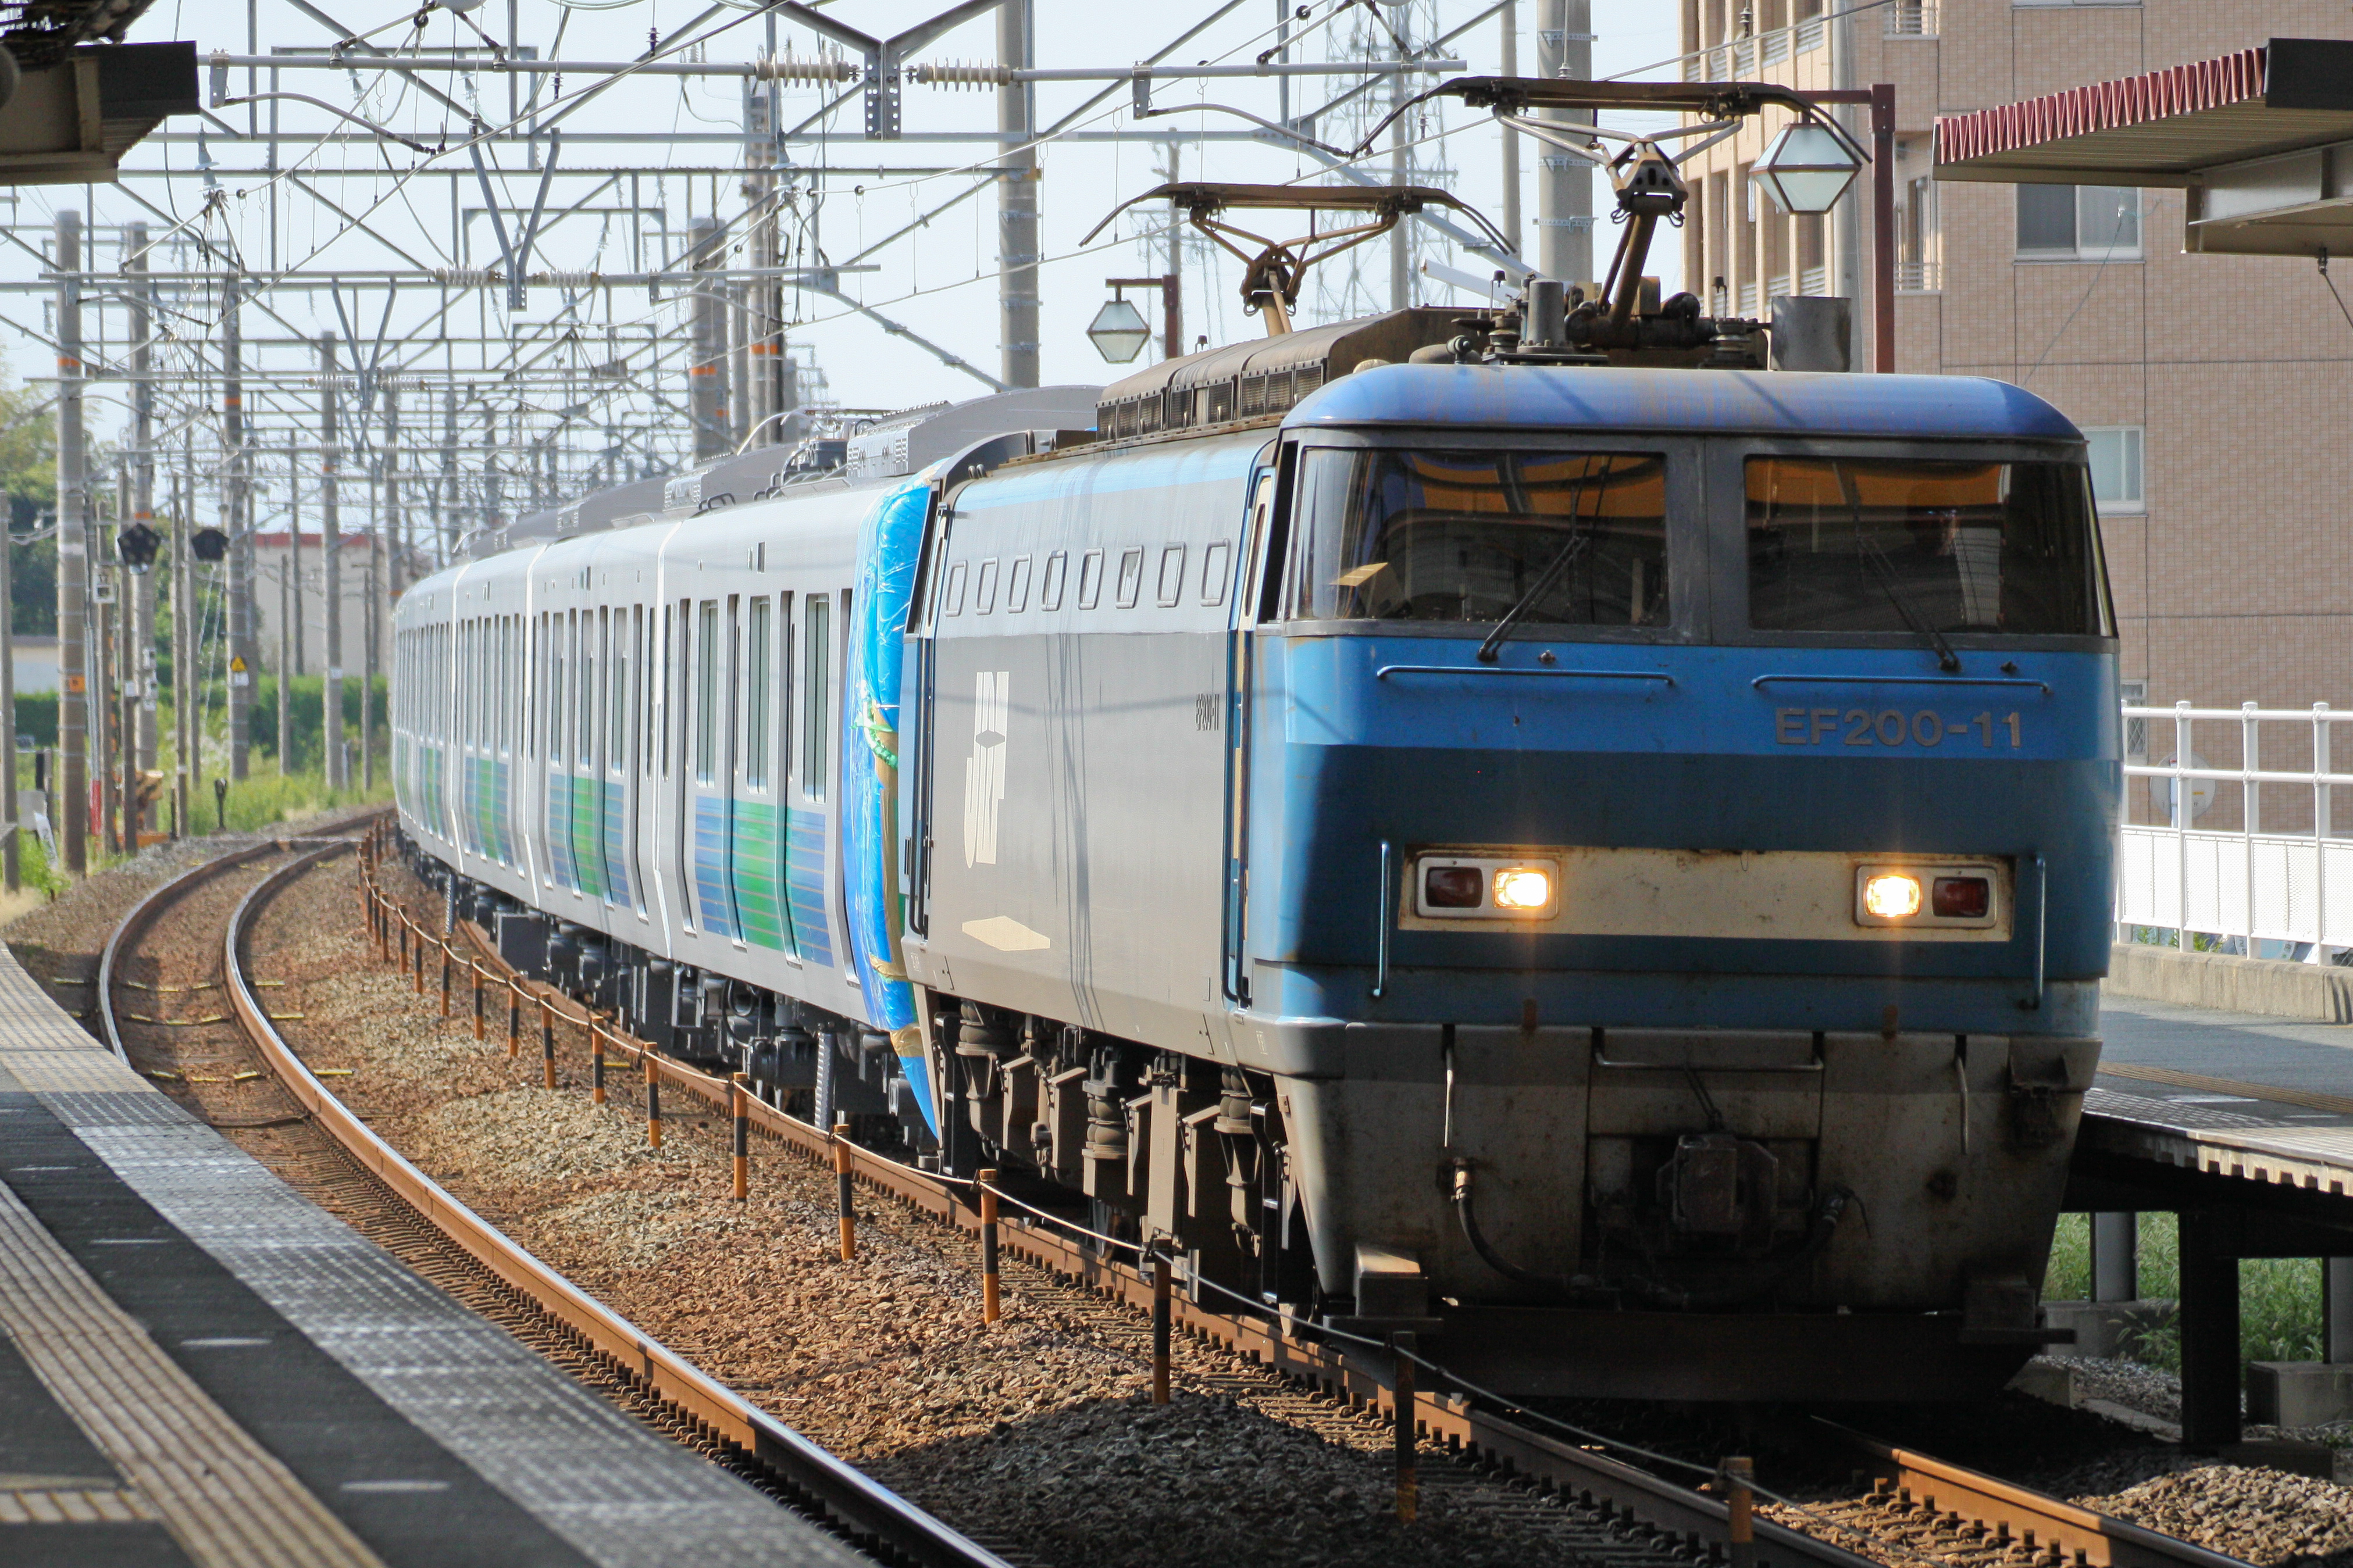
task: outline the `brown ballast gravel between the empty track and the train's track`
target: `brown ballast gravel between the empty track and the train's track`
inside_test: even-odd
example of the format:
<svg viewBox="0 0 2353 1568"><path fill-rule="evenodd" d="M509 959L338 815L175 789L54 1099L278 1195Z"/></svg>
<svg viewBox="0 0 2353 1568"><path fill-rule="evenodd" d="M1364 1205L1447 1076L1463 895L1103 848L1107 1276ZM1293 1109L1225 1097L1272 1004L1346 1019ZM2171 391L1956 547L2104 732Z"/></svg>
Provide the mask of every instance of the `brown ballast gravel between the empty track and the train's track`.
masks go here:
<svg viewBox="0 0 2353 1568"><path fill-rule="evenodd" d="M282 1025L313 1067L402 1154L633 1324L894 1490L1019 1563L1151 1561L1233 1568L1522 1568L1579 1561L1558 1540L1426 1488L1393 1516L1388 1434L1311 1432L1212 1378L1224 1352L1179 1338L1174 1401L1148 1403L1139 1345L1068 1298L1005 1276L981 1324L972 1241L861 1199L859 1255L835 1255L833 1178L753 1143L751 1201L729 1199L725 1121L664 1098L645 1140L642 1086L619 1067L591 1105L586 1063L558 1037L541 1086L536 1011L506 1056L506 1001L473 1039L459 971L452 1016L367 957L348 863L264 917L261 969L285 980ZM1038 1281L1042 1284L1042 1281Z"/></svg>

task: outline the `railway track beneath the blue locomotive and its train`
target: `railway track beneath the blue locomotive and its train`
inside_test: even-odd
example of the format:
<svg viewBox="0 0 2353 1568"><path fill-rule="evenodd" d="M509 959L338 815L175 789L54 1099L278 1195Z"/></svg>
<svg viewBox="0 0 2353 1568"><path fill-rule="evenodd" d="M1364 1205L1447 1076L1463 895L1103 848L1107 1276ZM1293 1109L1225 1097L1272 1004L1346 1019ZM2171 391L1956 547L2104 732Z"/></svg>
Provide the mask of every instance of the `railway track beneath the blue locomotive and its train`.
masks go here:
<svg viewBox="0 0 2353 1568"><path fill-rule="evenodd" d="M365 858L362 877L379 952L393 957L398 947L398 961L412 966L421 990L426 983L421 969L433 954L449 976L447 985L489 985L529 994L532 1009L546 1004L562 1025L600 1046L609 1065L628 1065L640 1077L649 1070L664 1091L692 1093L720 1117L736 1105L725 1079L661 1058L579 1004L515 976L471 924L459 924L454 938L428 931L384 891L374 865ZM845 1154L852 1180L864 1192L904 1204L941 1225L979 1232L981 1218L967 1185L838 1143L826 1131L755 1098L741 1105L753 1135L812 1166L831 1168L835 1157ZM1033 1220L1002 1222L1000 1251L1028 1265L1031 1279L1024 1279L1024 1288L1082 1319L1106 1342L1148 1354L1153 1284L1141 1267ZM1172 1324L1179 1333L1221 1345L1249 1363L1235 1373L1209 1375L1205 1382L1217 1392L1358 1448L1393 1429L1395 1373L1384 1349L1346 1345L1304 1324L1219 1312L1184 1293L1172 1300ZM1424 1387L1428 1373L1442 1378L1442 1368L1428 1363L1426 1368ZM1461 1387L1435 1396L1424 1392L1414 1403L1414 1425L1426 1490L1454 1490L1464 1502L1508 1509L1520 1521L1541 1521L1541 1533L1558 1540L1565 1556L1614 1568L1713 1563L1734 1556L1729 1509L1713 1483L1680 1486L1617 1460L1605 1453L1612 1443L1602 1434L1546 1422L1541 1415L1506 1401L1478 1399ZM1861 1432L1817 1422L1809 1436L1838 1448L1852 1469L1868 1479L1868 1490L1842 1502L1798 1507L1779 1500L1779 1507L1767 1507L1767 1514L1795 1519L1805 1528L1788 1528L1760 1514L1753 1561L1765 1568L1861 1563L2247 1568L2193 1542Z"/></svg>

